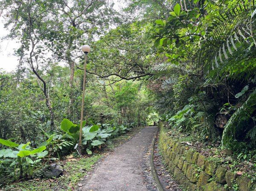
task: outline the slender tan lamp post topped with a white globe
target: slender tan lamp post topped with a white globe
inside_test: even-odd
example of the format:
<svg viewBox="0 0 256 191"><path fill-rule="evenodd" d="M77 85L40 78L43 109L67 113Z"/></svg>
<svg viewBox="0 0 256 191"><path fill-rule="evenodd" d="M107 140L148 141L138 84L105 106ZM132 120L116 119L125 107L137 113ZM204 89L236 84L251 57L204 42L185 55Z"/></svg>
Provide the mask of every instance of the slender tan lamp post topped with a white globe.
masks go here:
<svg viewBox="0 0 256 191"><path fill-rule="evenodd" d="M81 107L81 122L80 122L80 134L79 134L79 152L82 149L82 125L83 125L83 115L84 115L84 91L85 91L85 79L86 79L86 56L90 52L91 48L88 45L82 46L82 51L84 52L84 80L83 80L83 96L82 96L82 107Z"/></svg>

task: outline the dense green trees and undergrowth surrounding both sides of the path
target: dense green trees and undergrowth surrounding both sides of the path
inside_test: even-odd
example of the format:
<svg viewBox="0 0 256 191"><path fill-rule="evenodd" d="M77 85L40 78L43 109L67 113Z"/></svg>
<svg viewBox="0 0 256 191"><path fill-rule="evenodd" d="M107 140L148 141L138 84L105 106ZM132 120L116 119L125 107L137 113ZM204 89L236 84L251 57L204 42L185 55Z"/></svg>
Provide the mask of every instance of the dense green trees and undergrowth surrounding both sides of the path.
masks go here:
<svg viewBox="0 0 256 191"><path fill-rule="evenodd" d="M253 0L128 0L119 11L110 0L1 0L0 8L6 38L20 43L17 69L0 70L1 174L32 176L23 158L41 162L34 148L63 157L80 128L91 154L158 120L255 160ZM80 127L83 44L92 51ZM26 156L17 155L22 143Z"/></svg>

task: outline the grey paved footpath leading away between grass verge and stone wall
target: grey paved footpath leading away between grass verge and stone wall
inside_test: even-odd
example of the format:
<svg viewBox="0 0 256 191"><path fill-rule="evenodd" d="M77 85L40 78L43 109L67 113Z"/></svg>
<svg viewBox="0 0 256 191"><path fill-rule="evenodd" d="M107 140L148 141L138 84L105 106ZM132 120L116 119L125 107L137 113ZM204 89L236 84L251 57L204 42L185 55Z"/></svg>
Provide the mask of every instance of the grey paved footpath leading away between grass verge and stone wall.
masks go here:
<svg viewBox="0 0 256 191"><path fill-rule="evenodd" d="M98 164L95 171L78 184L79 191L148 191L156 190L154 181L145 175L143 158L157 131L145 127L127 143L117 148ZM147 177L145 179L145 177Z"/></svg>

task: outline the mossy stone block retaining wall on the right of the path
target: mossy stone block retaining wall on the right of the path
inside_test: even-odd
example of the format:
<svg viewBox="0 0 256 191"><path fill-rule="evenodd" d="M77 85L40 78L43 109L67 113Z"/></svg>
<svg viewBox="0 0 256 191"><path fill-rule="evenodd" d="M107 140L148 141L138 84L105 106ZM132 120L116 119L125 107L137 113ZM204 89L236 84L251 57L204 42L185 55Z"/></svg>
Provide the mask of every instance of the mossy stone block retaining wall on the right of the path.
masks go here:
<svg viewBox="0 0 256 191"><path fill-rule="evenodd" d="M159 147L169 171L187 191L256 191L255 182L207 160L204 155L177 143L159 123ZM226 186L224 186L226 185ZM227 188L228 187L228 188Z"/></svg>

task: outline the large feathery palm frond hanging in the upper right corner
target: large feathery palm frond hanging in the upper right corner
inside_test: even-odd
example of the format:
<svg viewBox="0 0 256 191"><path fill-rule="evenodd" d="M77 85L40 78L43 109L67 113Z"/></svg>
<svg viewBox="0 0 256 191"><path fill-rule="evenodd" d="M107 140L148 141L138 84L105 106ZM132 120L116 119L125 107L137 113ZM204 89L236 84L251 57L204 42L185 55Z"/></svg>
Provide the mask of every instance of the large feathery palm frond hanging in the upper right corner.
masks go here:
<svg viewBox="0 0 256 191"><path fill-rule="evenodd" d="M203 65L206 72L216 68L218 70L231 60L239 59L237 51L244 52L251 44L256 46L253 37L255 23L251 22L255 17L250 14L254 9L254 4L250 6L250 3L239 2L232 12L219 11L220 17L207 29L206 40L201 43L198 51L196 59L199 66ZM239 64L237 61L233 63L236 66Z"/></svg>

